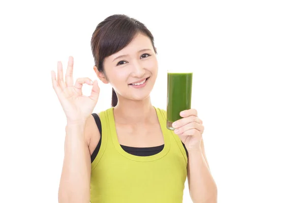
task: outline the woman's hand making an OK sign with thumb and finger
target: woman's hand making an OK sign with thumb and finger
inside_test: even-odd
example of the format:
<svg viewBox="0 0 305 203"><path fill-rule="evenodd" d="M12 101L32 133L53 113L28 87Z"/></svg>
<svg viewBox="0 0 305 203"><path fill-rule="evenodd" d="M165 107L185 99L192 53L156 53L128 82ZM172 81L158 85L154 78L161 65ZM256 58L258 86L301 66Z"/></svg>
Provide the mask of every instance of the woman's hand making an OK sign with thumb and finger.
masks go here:
<svg viewBox="0 0 305 203"><path fill-rule="evenodd" d="M57 62L57 80L54 71L51 71L53 89L55 90L60 104L67 116L68 124L84 123L92 114L100 93L98 81L89 78L78 78L73 85L73 57L69 57L66 71L66 82L64 81L63 64ZM82 85L86 83L93 85L91 95L82 95Z"/></svg>

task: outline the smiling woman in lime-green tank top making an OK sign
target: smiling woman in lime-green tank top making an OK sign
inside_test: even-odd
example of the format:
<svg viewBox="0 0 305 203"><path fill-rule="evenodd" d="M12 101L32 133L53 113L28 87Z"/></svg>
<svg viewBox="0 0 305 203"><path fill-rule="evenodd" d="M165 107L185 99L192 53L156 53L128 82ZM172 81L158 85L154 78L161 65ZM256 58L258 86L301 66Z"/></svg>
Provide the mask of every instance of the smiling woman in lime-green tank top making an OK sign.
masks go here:
<svg viewBox="0 0 305 203"><path fill-rule="evenodd" d="M166 113L150 103L158 62L154 37L126 15L112 15L93 33L94 71L112 89L112 108L93 113L98 82L78 78L73 58L64 80L62 63L51 72L67 116L59 202L182 202L186 178L193 202L217 202L217 187L205 158L204 127L197 111L166 128ZM90 96L82 85L92 85Z"/></svg>

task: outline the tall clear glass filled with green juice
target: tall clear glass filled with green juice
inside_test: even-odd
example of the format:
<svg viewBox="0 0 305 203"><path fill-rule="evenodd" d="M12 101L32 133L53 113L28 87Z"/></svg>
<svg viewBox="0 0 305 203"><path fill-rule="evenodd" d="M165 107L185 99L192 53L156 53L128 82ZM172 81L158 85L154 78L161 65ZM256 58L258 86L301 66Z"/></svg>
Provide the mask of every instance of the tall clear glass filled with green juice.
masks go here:
<svg viewBox="0 0 305 203"><path fill-rule="evenodd" d="M181 119L180 112L191 109L193 72L167 72L167 129Z"/></svg>

